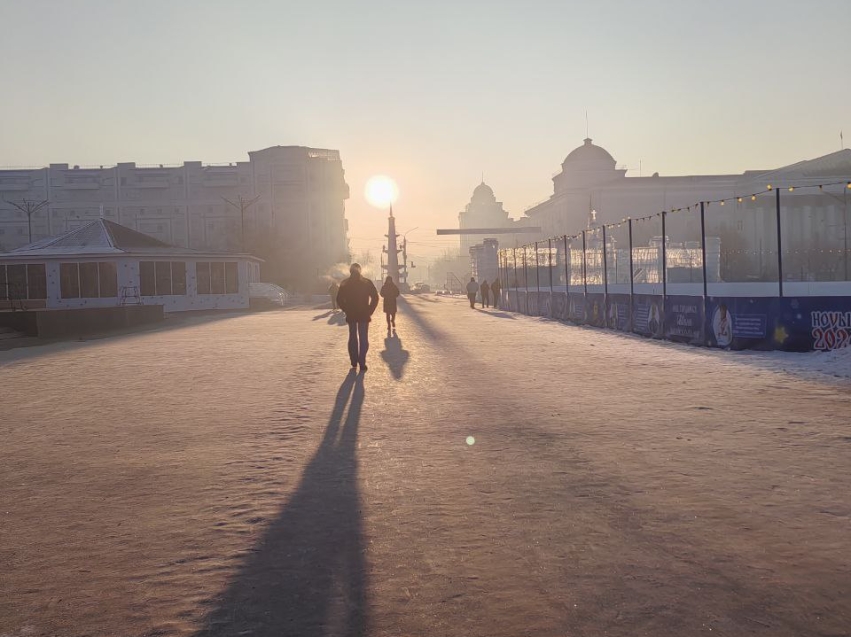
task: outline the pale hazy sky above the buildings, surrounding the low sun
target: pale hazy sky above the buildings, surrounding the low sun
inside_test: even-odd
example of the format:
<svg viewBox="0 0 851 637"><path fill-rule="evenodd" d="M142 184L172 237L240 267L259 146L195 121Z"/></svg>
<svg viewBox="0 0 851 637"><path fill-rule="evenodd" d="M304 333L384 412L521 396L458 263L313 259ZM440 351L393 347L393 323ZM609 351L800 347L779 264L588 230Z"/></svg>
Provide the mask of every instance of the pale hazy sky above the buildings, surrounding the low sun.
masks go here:
<svg viewBox="0 0 851 637"><path fill-rule="evenodd" d="M851 142L848 0L0 0L0 166L339 149L353 247L399 183L436 254L482 172L513 216L585 137L638 174L772 168ZM846 146L849 144L846 143Z"/></svg>

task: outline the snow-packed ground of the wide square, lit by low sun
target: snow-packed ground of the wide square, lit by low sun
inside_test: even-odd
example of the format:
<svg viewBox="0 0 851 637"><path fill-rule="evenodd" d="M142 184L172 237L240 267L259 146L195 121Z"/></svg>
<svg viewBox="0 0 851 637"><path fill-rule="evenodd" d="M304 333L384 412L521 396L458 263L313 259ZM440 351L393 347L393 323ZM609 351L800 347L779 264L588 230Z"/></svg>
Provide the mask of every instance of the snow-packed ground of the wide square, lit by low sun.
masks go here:
<svg viewBox="0 0 851 637"><path fill-rule="evenodd" d="M0 635L851 634L851 387L415 297L0 353Z"/></svg>

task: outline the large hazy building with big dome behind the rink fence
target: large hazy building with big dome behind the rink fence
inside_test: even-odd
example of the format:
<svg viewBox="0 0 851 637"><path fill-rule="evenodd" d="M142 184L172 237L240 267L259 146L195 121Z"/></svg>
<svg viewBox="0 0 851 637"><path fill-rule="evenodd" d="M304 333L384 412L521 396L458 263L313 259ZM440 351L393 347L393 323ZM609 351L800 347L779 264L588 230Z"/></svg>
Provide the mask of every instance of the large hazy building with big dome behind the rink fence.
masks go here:
<svg viewBox="0 0 851 637"><path fill-rule="evenodd" d="M540 226L541 232L524 242L581 232L588 228L592 212L600 224L608 225L676 210L667 216L668 246L688 249L700 241L699 203L716 202L706 208L705 224L707 237L720 242L721 277L776 280L779 189L783 259L788 266L784 279L848 280L851 150L740 174L629 177L626 172L608 151L584 140L553 177L553 194L526 211L528 225ZM819 184L831 185L817 188ZM766 192L769 186L772 190ZM753 193L761 194L751 197ZM634 231L635 246L661 242L658 217L636 223ZM623 244L625 228L619 232L617 240Z"/></svg>

